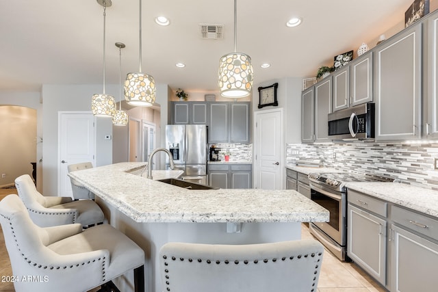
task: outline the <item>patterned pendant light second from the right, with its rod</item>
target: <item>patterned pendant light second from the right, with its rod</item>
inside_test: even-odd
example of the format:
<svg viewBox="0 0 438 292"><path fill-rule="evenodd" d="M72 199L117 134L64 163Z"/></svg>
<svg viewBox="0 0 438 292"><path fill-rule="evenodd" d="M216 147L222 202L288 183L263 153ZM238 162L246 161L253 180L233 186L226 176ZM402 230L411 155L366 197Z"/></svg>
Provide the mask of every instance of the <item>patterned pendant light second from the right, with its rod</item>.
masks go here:
<svg viewBox="0 0 438 292"><path fill-rule="evenodd" d="M140 49L139 71L127 74L125 81L125 100L129 105L150 107L155 103L155 81L151 75L142 73L142 0L140 2Z"/></svg>

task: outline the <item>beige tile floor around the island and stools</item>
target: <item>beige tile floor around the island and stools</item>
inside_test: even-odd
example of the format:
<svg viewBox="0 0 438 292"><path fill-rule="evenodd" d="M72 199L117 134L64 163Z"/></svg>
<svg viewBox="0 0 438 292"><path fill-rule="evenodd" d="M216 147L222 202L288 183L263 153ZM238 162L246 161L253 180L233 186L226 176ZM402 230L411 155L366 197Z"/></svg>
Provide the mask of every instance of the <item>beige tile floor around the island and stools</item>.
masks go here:
<svg viewBox="0 0 438 292"><path fill-rule="evenodd" d="M0 200L8 194L16 194L16 190L0 189ZM302 239L313 239L305 224L302 224ZM329 251L324 253L321 269L320 280L318 282L319 292L385 291L383 287L372 280L372 278L357 267L355 263L343 263ZM14 285L11 282L1 281L1 276L11 275L12 269L2 234L0 235L0 292L15 291ZM96 291L96 289L93 289L93 291Z"/></svg>

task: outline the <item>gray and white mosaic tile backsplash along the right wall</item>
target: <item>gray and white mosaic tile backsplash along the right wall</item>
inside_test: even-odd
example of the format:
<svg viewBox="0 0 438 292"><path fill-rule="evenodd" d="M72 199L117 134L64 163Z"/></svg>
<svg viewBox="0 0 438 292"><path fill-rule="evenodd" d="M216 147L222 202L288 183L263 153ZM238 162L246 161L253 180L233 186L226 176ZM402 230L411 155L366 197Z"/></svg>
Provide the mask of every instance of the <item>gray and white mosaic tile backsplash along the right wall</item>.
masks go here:
<svg viewBox="0 0 438 292"><path fill-rule="evenodd" d="M321 159L326 167L389 176L438 190L438 142L287 144L286 159L287 163Z"/></svg>

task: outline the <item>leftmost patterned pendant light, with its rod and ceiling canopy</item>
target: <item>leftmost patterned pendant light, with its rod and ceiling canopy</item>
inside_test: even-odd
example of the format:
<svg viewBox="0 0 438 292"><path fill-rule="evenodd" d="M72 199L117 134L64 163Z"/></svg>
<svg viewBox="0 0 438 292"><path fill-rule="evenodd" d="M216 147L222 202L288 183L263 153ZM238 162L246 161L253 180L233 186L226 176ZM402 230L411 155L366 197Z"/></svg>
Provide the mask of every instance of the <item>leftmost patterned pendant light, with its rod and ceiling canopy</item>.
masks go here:
<svg viewBox="0 0 438 292"><path fill-rule="evenodd" d="M105 94L105 18L106 9L112 5L111 0L97 0L103 6L103 93L94 94L91 98L91 110L94 116L114 116L116 113L116 101L114 96Z"/></svg>

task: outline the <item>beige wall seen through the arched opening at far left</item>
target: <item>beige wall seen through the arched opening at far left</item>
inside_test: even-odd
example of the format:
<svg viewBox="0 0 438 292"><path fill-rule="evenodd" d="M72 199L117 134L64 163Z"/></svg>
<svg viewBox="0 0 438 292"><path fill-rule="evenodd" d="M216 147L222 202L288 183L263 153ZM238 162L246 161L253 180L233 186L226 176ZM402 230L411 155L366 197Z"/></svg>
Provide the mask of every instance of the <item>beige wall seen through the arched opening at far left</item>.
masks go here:
<svg viewBox="0 0 438 292"><path fill-rule="evenodd" d="M36 109L0 106L0 187L14 185L16 177L32 175L36 162ZM2 178L1 174L5 174Z"/></svg>

